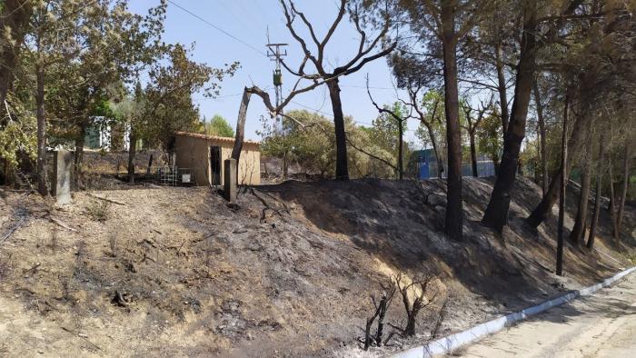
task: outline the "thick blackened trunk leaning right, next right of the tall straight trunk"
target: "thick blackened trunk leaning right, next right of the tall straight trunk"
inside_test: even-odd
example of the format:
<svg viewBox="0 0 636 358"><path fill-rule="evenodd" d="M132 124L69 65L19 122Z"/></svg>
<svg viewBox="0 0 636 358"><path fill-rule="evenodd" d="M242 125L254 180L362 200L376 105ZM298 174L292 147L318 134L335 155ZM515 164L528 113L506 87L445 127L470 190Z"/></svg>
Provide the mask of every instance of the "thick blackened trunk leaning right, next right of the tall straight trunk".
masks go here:
<svg viewBox="0 0 636 358"><path fill-rule="evenodd" d="M524 9L522 48L517 65L517 78L514 86L514 101L512 102L512 116L508 124L508 131L504 134L502 161L499 173L492 189L491 200L483 214L482 224L498 233L508 222L508 208L510 207L510 191L517 173L519 153L525 137L525 123L528 115L528 105L534 83L536 67L537 33L536 11L537 5L526 3Z"/></svg>

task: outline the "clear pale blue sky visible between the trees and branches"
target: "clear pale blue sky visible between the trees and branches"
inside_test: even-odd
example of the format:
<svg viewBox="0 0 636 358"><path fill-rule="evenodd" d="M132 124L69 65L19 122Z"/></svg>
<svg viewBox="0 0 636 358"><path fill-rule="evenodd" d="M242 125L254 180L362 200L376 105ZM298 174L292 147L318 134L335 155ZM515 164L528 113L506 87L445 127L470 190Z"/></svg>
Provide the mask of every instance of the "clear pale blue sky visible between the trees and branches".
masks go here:
<svg viewBox="0 0 636 358"><path fill-rule="evenodd" d="M165 21L164 41L167 43L195 43L194 59L211 66L239 61L241 68L234 75L228 77L222 84L218 98L205 98L194 94L194 100L200 106L201 114L211 118L214 114L221 114L235 127L243 87L258 85L268 88L273 100L272 71L273 62L260 54L266 52L267 32L270 41L288 43L286 63L297 67L303 58L298 45L284 25L283 11L278 0L172 0L175 4L202 17L225 32L234 35L247 45L205 24L179 7L168 4ZM159 0L132 0L131 10L145 14L151 6L157 5ZM314 25L314 30L322 38L337 14L339 2L337 0L296 0L296 5L303 11ZM303 24L298 19L296 28L303 30ZM326 48L327 63L335 66L342 65L351 59L359 45L358 34L348 18L343 19L339 30L333 35ZM248 46L249 45L249 46ZM251 48L252 46L253 48ZM370 125L377 116L377 110L369 100L365 88L365 75L369 75L370 86L375 101L379 104L390 104L395 101L391 70L385 59L378 59L367 64L361 71L344 77L341 80L344 114L352 115L353 119L362 125ZM283 95L288 93L293 85L293 75L283 70ZM401 94L403 95L403 94ZM404 97L405 98L405 97ZM321 86L313 92L300 94L294 98L286 110L308 109L319 110L327 117L331 117L332 108L326 87ZM304 106L304 107L303 107ZM260 116L267 115L267 111L258 96L253 96L245 124L245 137L260 140L256 131L262 128ZM267 116L269 118L269 116ZM417 122L411 120L409 131L405 139L414 141L414 129ZM417 144L419 146L420 144Z"/></svg>

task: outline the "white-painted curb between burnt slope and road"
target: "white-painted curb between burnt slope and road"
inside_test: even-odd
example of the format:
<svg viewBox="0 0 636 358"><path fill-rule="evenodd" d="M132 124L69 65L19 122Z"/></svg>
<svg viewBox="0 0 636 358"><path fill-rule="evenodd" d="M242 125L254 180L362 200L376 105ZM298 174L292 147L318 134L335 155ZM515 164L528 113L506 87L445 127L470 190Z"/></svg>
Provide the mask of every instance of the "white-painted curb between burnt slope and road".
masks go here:
<svg viewBox="0 0 636 358"><path fill-rule="evenodd" d="M475 342L482 337L485 337L486 335L499 332L504 327L509 326L512 323L521 321L526 317L531 316L532 314L542 313L543 311L551 307L558 306L563 303L568 303L576 297L586 296L594 293L595 291L598 291L603 287L609 286L611 283L615 283L626 274L634 272L634 270L636 270L636 266L622 271L621 273L616 273L615 275L602 281L601 283L596 283L594 285L591 285L590 287L586 287L578 291L573 291L571 293L566 293L561 297L557 297L550 301L546 301L544 303L526 308L521 312L510 313L508 315L495 318L492 321L478 324L470 329L467 329L466 331L451 334L431 343L426 343L424 345L402 351L401 353L393 354L392 358L426 358L431 357L435 354L451 353L453 350L461 347L464 344Z"/></svg>

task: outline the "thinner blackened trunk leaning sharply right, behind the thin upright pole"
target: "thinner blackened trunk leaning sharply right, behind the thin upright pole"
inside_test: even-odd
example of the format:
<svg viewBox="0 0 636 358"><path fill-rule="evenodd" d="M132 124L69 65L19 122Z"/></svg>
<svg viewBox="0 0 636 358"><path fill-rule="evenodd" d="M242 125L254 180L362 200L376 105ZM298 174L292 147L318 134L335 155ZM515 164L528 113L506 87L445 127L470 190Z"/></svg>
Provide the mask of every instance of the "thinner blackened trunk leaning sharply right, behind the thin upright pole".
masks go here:
<svg viewBox="0 0 636 358"><path fill-rule="evenodd" d="M591 115L588 114L581 114L576 118L576 121L572 125L572 133L570 141L568 142L568 147L570 147L571 153L576 153L581 149L584 137L583 134L589 130L589 127L591 126L591 119ZM554 205L557 197L559 197L561 173L565 173L566 175L570 174L571 163L566 163L566 165L567 166L564 171L560 168L559 172L552 176L552 180L548 186L548 192L543 195L541 203L534 208L530 216L526 219L526 222L531 224L532 227L537 227L542 224L543 220L545 220L548 214L552 212L552 205Z"/></svg>

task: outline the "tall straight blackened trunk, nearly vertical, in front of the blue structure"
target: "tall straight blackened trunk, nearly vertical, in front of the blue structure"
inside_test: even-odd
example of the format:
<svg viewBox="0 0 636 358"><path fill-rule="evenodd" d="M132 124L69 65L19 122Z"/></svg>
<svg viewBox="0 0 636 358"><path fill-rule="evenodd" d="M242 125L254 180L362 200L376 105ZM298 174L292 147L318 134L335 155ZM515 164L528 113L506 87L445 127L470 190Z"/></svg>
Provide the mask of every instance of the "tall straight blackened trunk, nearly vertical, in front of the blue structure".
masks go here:
<svg viewBox="0 0 636 358"><path fill-rule="evenodd" d="M452 240L462 239L462 136L460 134L459 91L454 8L442 2L442 47L444 75L444 108L446 110L446 142L448 173L446 180L446 218L444 232Z"/></svg>

